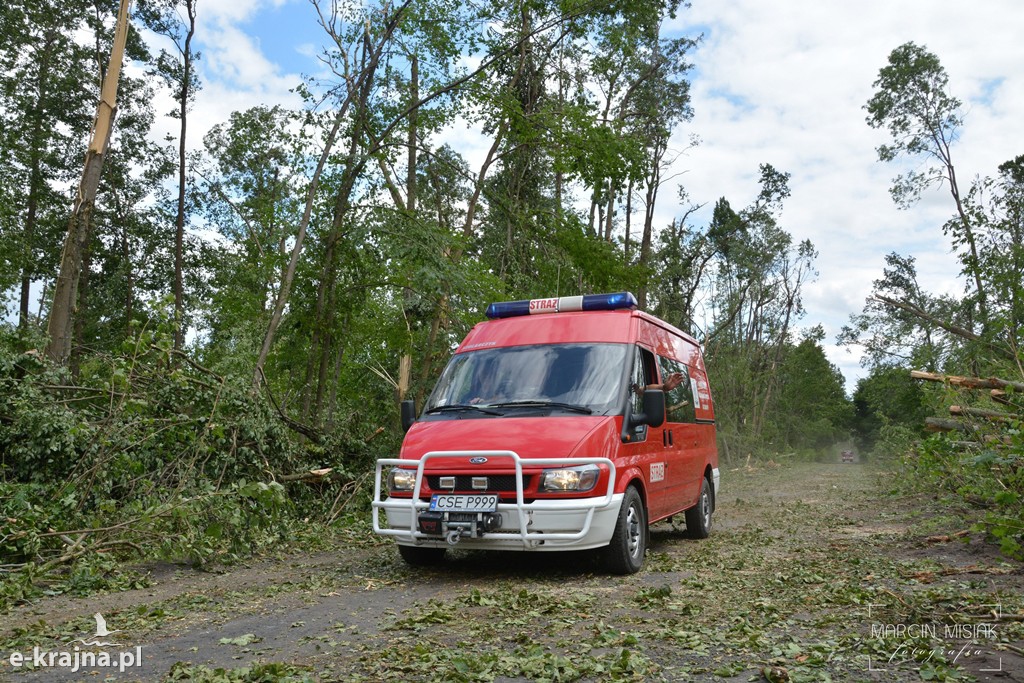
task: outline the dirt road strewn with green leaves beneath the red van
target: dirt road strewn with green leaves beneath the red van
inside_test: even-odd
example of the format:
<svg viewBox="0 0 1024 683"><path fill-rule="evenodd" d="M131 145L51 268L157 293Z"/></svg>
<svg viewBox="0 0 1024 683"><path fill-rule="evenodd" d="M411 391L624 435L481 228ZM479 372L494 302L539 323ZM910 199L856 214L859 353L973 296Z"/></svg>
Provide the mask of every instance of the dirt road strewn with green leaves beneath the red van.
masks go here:
<svg viewBox="0 0 1024 683"><path fill-rule="evenodd" d="M712 537L655 525L644 570L625 578L586 554L463 553L413 571L374 541L221 574L154 567L146 589L0 617L0 677L1024 681L1021 565L954 536L962 523L935 500L886 495L893 476L726 471ZM94 612L112 645L81 645L79 660L125 653L130 666L48 666L96 640ZM34 648L47 666L11 666Z"/></svg>

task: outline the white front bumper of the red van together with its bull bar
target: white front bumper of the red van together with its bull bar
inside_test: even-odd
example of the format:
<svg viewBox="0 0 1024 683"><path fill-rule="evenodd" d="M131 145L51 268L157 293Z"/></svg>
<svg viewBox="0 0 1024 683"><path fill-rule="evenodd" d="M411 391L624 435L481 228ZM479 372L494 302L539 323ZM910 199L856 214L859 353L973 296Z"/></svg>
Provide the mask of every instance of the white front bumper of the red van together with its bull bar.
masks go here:
<svg viewBox="0 0 1024 683"><path fill-rule="evenodd" d="M500 526L493 531L479 533L424 533L417 523L421 513L430 506L420 500L420 489L425 467L436 458L507 459L514 465L516 474L516 502L499 503L494 513L501 517ZM578 465L603 465L608 470L608 485L604 495L589 498L544 499L525 503L522 489L522 467L574 467ZM382 498L382 481L386 468L416 468L416 484L412 498ZM510 473L511 473L510 468ZM546 458L522 459L512 451L434 451L420 460L381 459L377 461L374 479L373 518L374 531L392 536L401 545L450 547L490 550L585 550L608 545L618 520L623 495L614 493L615 466L607 458ZM381 523L384 511L386 525Z"/></svg>

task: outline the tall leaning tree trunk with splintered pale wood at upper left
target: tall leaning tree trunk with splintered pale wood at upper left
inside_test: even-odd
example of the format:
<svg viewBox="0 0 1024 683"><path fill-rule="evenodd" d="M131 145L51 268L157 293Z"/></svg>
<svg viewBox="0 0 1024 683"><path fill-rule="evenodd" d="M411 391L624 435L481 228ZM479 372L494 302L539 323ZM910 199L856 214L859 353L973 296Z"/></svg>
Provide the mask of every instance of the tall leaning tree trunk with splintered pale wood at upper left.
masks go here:
<svg viewBox="0 0 1024 683"><path fill-rule="evenodd" d="M46 324L49 342L46 355L60 365L71 355L74 317L78 303L78 282L82 272L82 254L89 243L89 222L92 208L99 188L99 174L103 169L103 158L111 142L114 128L114 114L117 110L118 82L121 79L121 62L124 59L125 41L128 37L128 8L131 0L121 0L118 24L111 48L111 61L103 76L103 85L96 106L96 121L92 128L92 139L85 153L85 169L79 183L78 197L71 219L68 221L68 236L65 238L60 255L60 270L53 291L53 305Z"/></svg>

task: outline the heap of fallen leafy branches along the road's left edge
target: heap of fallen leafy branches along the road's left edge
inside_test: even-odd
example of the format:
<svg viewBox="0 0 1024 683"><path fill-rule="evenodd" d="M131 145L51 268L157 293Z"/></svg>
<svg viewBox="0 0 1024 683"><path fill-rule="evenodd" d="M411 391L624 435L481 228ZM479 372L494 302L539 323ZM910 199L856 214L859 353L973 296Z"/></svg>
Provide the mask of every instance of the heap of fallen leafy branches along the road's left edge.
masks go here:
<svg viewBox="0 0 1024 683"><path fill-rule="evenodd" d="M316 488L276 476L366 466L344 432L300 443L246 381L174 351L160 319L74 385L0 344L0 563L18 568L0 604L123 582L118 557L204 564L272 547L331 512Z"/></svg>

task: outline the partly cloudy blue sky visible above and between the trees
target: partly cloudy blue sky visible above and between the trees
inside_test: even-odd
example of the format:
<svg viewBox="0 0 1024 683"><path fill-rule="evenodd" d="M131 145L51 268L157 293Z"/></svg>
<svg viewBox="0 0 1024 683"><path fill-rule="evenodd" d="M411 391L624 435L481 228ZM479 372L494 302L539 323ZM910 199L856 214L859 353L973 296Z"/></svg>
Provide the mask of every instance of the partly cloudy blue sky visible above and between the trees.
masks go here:
<svg viewBox="0 0 1024 683"><path fill-rule="evenodd" d="M299 106L292 89L318 74L324 43L308 0L200 0L197 44L203 90L189 118L190 146L233 111L256 104ZM953 150L957 176L994 176L1024 154L1024 5L1017 0L692 0L669 22L671 35L702 36L691 53L694 117L677 130L673 169L690 200L706 204L705 224L726 198L733 208L759 191L759 166L791 174L779 224L819 253L806 286L801 325L822 325L823 347L852 391L857 349L835 344L859 312L890 252L916 258L932 292L959 293L959 266L941 226L948 191L926 194L910 211L895 207L891 179L901 169L877 161L884 131L865 123L864 103L889 53L913 41L935 53L951 94L965 104ZM167 109L170 105L168 104ZM173 130L173 122L168 122ZM700 143L690 148L689 139ZM470 159L485 141L452 131ZM658 222L681 216L675 188L659 201Z"/></svg>

